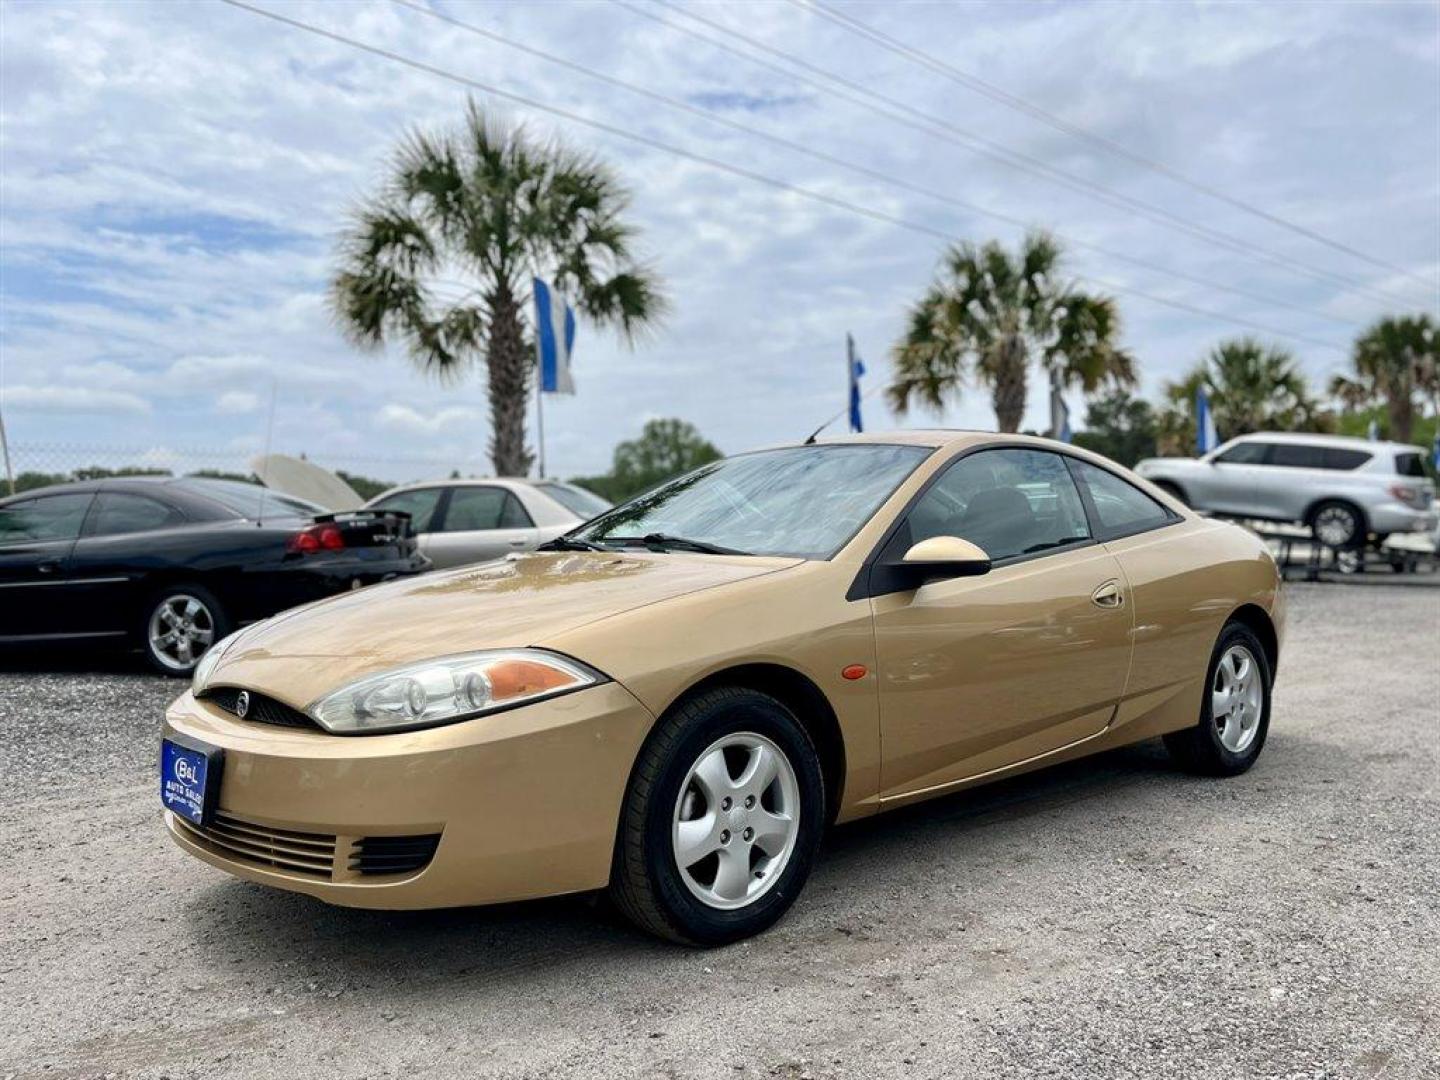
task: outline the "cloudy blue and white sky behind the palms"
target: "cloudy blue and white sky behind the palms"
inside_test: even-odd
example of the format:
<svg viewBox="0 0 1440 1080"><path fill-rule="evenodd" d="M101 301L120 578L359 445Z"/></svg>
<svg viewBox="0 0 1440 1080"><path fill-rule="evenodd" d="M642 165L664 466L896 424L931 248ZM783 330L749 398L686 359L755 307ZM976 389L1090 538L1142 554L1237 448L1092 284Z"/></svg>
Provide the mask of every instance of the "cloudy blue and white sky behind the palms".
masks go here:
<svg viewBox="0 0 1440 1080"><path fill-rule="evenodd" d="M802 3L690 6L704 26L649 0L634 3L670 24L608 0L431 1L831 160L389 0L255 4L920 226L480 95L615 164L674 304L634 351L582 328L580 392L546 403L552 471L603 471L613 444L654 416L693 420L726 451L805 435L844 406L847 330L867 384L884 379L940 235L1009 243L1022 222L1068 238L1071 272L1119 295L1151 393L1243 323L1270 328L1320 380L1365 321L1436 307L1433 3L838 4L1061 125L1377 265ZM19 464L35 446L238 464L265 439L274 387L275 449L389 478L423 474L426 461L488 468L482 373L442 386L400 353L357 354L324 302L347 207L408 128L452 124L472 91L217 0L3 0L0 46L0 409ZM855 89L828 89L816 69ZM1043 397L1031 393L1027 426L1045 426ZM903 419L877 395L865 419L994 423L982 390L943 416ZM52 467L98 456L43 454L33 461Z"/></svg>

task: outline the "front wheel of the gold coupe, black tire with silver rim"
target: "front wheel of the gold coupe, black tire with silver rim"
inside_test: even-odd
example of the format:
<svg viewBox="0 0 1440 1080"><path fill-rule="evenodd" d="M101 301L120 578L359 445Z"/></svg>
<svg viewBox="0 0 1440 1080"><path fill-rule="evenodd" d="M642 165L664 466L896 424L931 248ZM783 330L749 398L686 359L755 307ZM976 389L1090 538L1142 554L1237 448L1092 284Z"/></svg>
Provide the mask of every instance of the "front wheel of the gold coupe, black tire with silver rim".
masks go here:
<svg viewBox="0 0 1440 1080"><path fill-rule="evenodd" d="M729 945L772 926L809 877L825 780L783 704L719 687L651 733L621 814L611 897L672 942Z"/></svg>

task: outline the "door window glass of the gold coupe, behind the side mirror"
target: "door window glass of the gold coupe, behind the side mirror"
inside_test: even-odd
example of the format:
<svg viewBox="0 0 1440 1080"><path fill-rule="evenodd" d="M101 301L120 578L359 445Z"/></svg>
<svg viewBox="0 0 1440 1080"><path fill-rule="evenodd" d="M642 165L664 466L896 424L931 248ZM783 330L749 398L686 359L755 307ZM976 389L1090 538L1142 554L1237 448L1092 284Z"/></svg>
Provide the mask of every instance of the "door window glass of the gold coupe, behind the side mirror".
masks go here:
<svg viewBox="0 0 1440 1080"><path fill-rule="evenodd" d="M910 544L958 536L994 560L1090 539L1084 505L1064 461L1031 449L960 458L914 504L907 526Z"/></svg>

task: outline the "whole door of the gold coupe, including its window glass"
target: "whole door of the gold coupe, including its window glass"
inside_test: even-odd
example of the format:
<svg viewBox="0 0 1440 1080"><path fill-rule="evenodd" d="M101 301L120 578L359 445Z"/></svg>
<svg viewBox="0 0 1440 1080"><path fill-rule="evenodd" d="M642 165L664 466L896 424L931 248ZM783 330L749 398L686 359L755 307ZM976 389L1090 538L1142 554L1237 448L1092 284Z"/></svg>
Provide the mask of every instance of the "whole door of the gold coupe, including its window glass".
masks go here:
<svg viewBox="0 0 1440 1080"><path fill-rule="evenodd" d="M1103 732L1125 688L1130 612L1060 455L962 455L881 559L958 536L996 564L873 598L881 798L960 783Z"/></svg>

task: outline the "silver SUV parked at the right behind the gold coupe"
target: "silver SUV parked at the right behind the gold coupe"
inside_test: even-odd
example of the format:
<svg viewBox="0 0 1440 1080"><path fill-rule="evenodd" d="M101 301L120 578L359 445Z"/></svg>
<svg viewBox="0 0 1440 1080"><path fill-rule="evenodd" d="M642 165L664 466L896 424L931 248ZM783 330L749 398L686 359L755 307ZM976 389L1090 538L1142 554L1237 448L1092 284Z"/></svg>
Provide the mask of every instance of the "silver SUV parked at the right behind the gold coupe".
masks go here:
<svg viewBox="0 0 1440 1080"><path fill-rule="evenodd" d="M1148 458L1135 471L1195 510L1296 521L1329 547L1436 530L1426 452L1339 435L1243 435L1204 458Z"/></svg>

